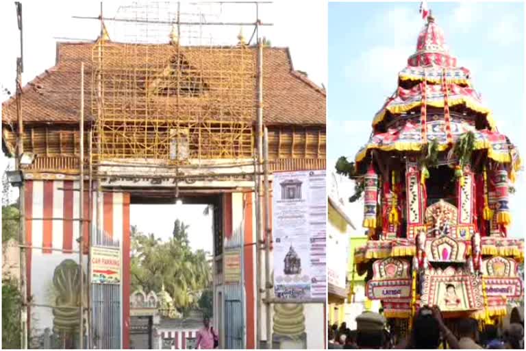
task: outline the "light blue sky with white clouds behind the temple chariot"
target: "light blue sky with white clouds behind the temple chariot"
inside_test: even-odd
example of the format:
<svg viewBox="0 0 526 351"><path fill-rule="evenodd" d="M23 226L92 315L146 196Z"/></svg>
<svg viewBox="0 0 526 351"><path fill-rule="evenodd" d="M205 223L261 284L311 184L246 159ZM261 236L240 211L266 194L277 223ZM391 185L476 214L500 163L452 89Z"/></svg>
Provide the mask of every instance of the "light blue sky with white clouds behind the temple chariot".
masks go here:
<svg viewBox="0 0 526 351"><path fill-rule="evenodd" d="M475 89L494 112L499 132L526 157L525 5L520 3L429 2L436 23L458 65L471 70ZM327 169L339 156L354 159L371 134L373 116L397 88L397 74L416 49L423 28L413 3L329 3L329 86L327 87ZM342 180L342 178L340 178ZM353 186L339 186L344 199ZM526 228L525 173L518 174L510 199L509 234ZM362 203L347 204L360 228ZM360 230L362 230L360 228Z"/></svg>

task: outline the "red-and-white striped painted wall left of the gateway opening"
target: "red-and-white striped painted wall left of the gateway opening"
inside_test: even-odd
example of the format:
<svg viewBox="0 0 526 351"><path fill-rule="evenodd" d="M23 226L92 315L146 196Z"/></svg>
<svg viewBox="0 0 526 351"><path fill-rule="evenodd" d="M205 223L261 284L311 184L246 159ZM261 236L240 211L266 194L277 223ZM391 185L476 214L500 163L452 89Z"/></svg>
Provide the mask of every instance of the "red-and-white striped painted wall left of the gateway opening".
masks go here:
<svg viewBox="0 0 526 351"><path fill-rule="evenodd" d="M73 180L28 180L25 182L25 216L26 243L33 245L27 250L27 295L32 296L36 305L60 304L58 283L53 283L55 268L65 260L73 260L78 264L79 244L79 182ZM87 183L85 189L88 189ZM89 202L89 191L84 196L84 218L89 218L89 207L92 206L92 221L85 221L84 233L86 242L89 240L89 226L95 230L97 193L92 193L92 203ZM123 243L124 259L122 263L123 306L129 306L129 195L123 193L104 193L99 199L100 223L106 234ZM87 272L88 245L84 247L83 267ZM128 259L128 262L126 260ZM125 268L127 262L127 269ZM64 278L67 279L67 278ZM87 289L87 286L86 286ZM84 304L87 306L85 293ZM122 297L122 295L121 295ZM29 308L29 328L36 338L35 347L41 347L44 333L53 330L53 308L47 306L31 306ZM129 308L123 308L123 341L127 341L129 332ZM72 319L73 320L73 319ZM123 344L127 347L127 342Z"/></svg>

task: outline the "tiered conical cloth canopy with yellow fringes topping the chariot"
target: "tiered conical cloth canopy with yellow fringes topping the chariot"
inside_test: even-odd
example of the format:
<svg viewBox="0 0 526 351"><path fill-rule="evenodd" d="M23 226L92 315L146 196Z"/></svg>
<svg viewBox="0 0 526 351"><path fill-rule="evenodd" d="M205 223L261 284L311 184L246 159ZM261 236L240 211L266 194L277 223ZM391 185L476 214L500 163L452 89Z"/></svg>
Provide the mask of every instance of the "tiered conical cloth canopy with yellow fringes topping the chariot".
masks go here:
<svg viewBox="0 0 526 351"><path fill-rule="evenodd" d="M497 131L470 71L456 64L442 29L429 17L418 35L416 52L399 73L397 90L375 114L371 138L355 158L358 170L366 170L364 164L374 149L419 152L436 139L438 149L444 150L468 131L475 133L475 150L515 171L520 167L516 148Z"/></svg>

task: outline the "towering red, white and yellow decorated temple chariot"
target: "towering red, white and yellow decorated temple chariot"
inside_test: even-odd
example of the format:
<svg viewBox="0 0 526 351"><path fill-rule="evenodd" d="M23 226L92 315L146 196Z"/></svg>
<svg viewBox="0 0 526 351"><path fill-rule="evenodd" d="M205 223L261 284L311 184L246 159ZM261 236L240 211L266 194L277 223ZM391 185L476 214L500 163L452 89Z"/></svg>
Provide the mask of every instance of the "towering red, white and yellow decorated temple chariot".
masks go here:
<svg viewBox="0 0 526 351"><path fill-rule="evenodd" d="M368 233L355 268L394 335L410 330L418 306L439 306L453 330L460 317L484 328L523 298L523 239L508 237L520 168L429 16L355 156Z"/></svg>

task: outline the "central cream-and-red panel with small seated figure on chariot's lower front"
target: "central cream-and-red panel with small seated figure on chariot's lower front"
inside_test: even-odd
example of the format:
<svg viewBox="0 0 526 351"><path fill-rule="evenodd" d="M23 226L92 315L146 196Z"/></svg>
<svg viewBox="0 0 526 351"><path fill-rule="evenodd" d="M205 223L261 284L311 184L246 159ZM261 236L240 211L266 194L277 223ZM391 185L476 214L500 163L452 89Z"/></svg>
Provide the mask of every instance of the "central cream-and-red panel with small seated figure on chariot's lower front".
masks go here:
<svg viewBox="0 0 526 351"><path fill-rule="evenodd" d="M437 305L444 312L484 308L481 280L462 268L427 269L421 304Z"/></svg>

